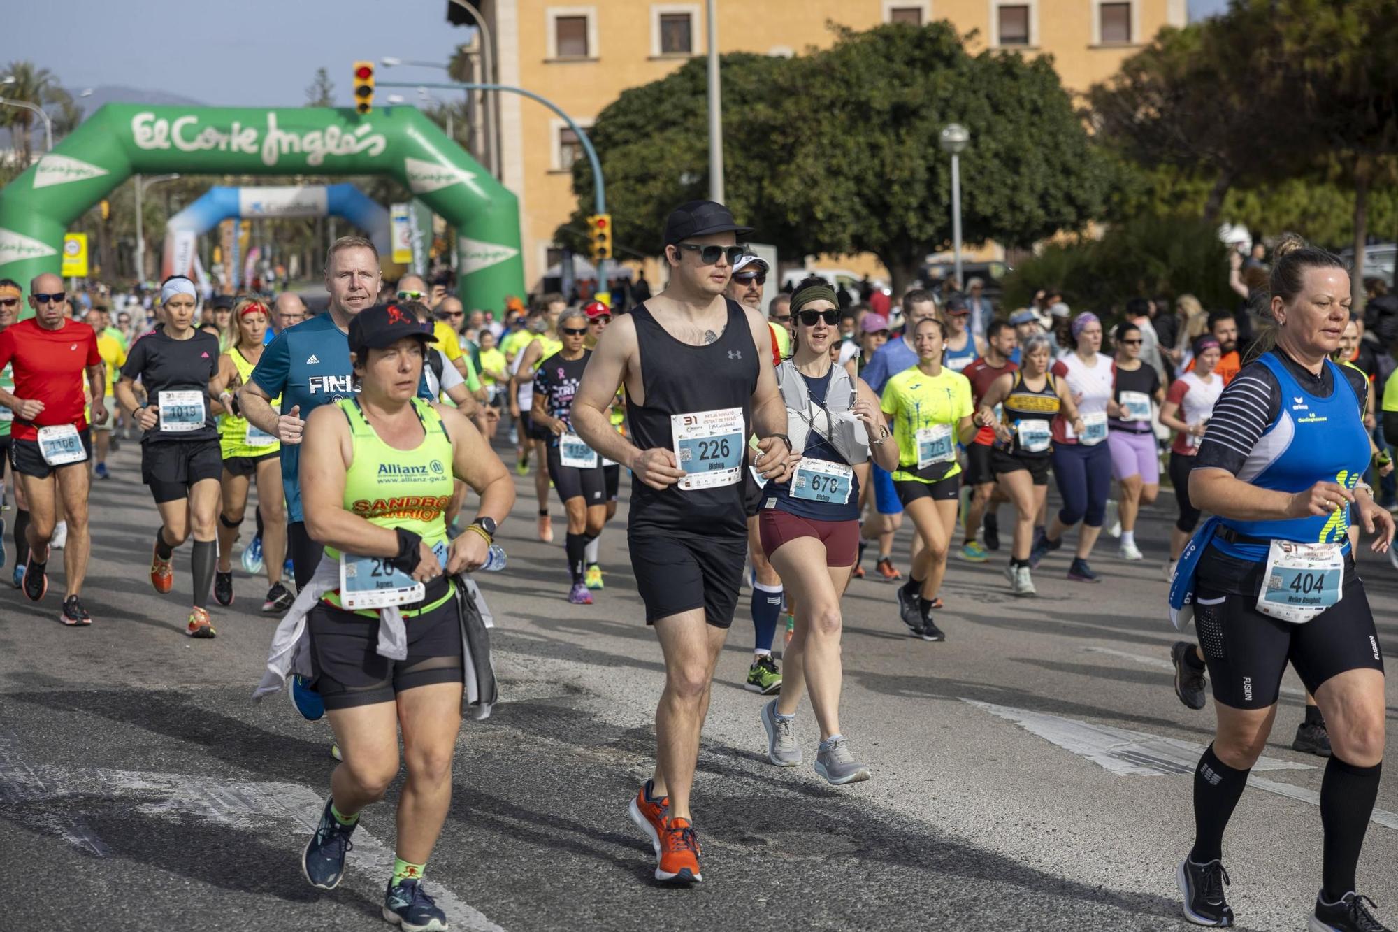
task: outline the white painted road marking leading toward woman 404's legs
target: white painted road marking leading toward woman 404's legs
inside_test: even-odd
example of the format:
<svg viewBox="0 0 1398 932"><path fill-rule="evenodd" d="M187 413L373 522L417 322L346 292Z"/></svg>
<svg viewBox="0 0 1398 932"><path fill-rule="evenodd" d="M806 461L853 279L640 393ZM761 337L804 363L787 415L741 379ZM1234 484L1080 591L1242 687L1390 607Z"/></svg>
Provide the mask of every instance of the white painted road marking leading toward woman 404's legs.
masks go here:
<svg viewBox="0 0 1398 932"><path fill-rule="evenodd" d="M1174 737L1160 737L1146 732L1134 732L1127 728L1113 728L1111 725L1092 725L1061 715L1047 712L1032 712L1008 705L994 705L963 698L963 702L983 708L991 715L1008 719L1030 735L1037 735L1047 742L1069 750L1074 754L1086 757L1104 770L1118 775L1162 777L1192 774L1194 767L1204 753L1202 744L1181 742ZM1320 793L1304 786L1293 786L1264 777L1257 771L1268 770L1316 770L1310 764L1278 760L1276 757L1258 757L1253 764L1253 775L1248 777L1248 786L1265 789L1278 796L1296 799L1320 806ZM1398 830L1398 813L1384 809L1374 809L1370 820L1385 828Z"/></svg>

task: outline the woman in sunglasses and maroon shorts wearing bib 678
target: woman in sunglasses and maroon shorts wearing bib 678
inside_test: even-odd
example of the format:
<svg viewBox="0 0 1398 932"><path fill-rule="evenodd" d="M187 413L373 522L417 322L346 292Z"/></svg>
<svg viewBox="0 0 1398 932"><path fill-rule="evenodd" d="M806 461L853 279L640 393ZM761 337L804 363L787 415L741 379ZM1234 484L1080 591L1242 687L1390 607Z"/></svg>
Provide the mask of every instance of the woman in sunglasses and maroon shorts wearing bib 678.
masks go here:
<svg viewBox="0 0 1398 932"><path fill-rule="evenodd" d="M815 772L832 784L870 778L840 733L840 596L858 556L860 487L853 466L872 453L884 469L898 466L878 396L864 379L830 358L840 339L840 305L823 278L807 278L791 295L795 351L777 367L787 431L801 451L791 479L762 491L758 529L762 549L795 605L795 634L787 645L781 696L762 707L768 760L801 763L795 709L809 687L821 725Z"/></svg>

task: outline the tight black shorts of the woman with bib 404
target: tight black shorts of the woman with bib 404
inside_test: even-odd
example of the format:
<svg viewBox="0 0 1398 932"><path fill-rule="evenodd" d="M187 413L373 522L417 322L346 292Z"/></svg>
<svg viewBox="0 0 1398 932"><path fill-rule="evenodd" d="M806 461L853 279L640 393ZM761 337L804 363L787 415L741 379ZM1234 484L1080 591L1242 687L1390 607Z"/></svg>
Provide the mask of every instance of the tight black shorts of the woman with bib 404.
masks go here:
<svg viewBox="0 0 1398 932"><path fill-rule="evenodd" d="M1265 565L1211 549L1199 561L1194 589L1194 627L1213 683L1213 700L1233 708L1276 702L1282 673L1292 663L1302 683L1316 690L1338 673L1383 672L1364 584L1346 560L1343 598L1306 624L1272 619L1257 610Z"/></svg>

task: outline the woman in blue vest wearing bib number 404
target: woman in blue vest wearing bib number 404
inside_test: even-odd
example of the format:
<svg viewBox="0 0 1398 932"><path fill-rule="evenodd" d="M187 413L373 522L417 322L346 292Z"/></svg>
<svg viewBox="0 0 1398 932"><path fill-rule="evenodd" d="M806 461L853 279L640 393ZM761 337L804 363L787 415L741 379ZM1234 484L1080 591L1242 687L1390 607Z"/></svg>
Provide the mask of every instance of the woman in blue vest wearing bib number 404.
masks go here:
<svg viewBox="0 0 1398 932"><path fill-rule="evenodd" d="M1385 929L1355 891L1384 756L1384 663L1355 572L1349 511L1385 553L1394 521L1360 481L1369 467L1364 375L1335 365L1349 274L1289 235L1271 273L1268 326L1229 382L1190 473L1190 500L1219 516L1197 540L1194 620L1218 730L1194 774L1194 848L1177 879L1184 914L1233 925L1223 897L1223 828L1276 715L1290 661L1329 725L1320 789L1323 886L1310 929ZM1187 572L1181 561L1181 570ZM1371 904L1370 904L1371 905Z"/></svg>

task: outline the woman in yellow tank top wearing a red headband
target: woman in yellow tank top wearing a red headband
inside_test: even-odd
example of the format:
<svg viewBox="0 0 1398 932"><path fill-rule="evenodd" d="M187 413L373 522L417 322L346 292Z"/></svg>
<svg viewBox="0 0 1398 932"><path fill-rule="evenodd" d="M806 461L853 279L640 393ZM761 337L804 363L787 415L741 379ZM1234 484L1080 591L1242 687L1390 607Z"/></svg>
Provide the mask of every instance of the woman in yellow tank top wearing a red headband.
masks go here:
<svg viewBox="0 0 1398 932"><path fill-rule="evenodd" d="M218 515L218 570L214 572L214 599L233 603L233 543L247 511L247 486L257 481L261 518L263 565L267 568L267 596L263 612L281 613L291 607L292 595L281 581L287 560L287 512L281 490L281 444L271 434L257 430L239 416L233 392L252 376L263 354L270 313L254 298L239 298L228 326L228 350L218 357L214 388L222 414L218 417L218 445L224 456L222 511ZM281 399L273 399L280 407Z"/></svg>

